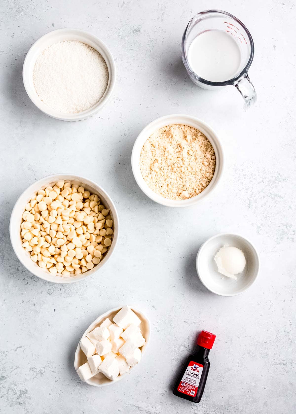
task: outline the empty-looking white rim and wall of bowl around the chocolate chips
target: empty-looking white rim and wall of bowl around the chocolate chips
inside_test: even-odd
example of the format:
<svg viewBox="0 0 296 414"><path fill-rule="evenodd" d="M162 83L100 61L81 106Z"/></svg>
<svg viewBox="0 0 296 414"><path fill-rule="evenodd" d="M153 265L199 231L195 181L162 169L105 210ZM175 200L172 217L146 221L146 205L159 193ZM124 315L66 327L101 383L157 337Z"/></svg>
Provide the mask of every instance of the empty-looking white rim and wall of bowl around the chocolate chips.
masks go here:
<svg viewBox="0 0 296 414"><path fill-rule="evenodd" d="M114 223L114 233L112 238L112 244L107 251L106 255L102 259L101 262L99 262L98 265L94 266L91 270L88 270L85 273L78 274L75 276L70 277L63 277L63 276L56 276L52 273L50 273L47 269L42 269L37 265L37 263L34 263L30 259L30 253L26 252L25 249L22 247L22 238L21 238L21 224L22 224L22 214L24 212L26 204L31 200L32 195L35 195L38 190L46 188L48 185L53 185L59 180L65 180L69 181L71 184L79 184L82 185L86 190L89 190L92 193L95 193L99 195L100 200L102 200L102 203L105 207L107 207L110 210L110 214L113 219ZM94 183L93 181L88 180L87 178L75 176L73 174L55 174L52 176L47 176L44 178L41 178L38 181L35 181L34 184L30 185L27 190L24 190L24 192L19 196L17 202L15 203L15 207L12 210L11 216L10 216L10 240L13 247L13 250L15 250L15 254L17 255L17 258L20 262L24 265L24 267L27 267L29 272L33 273L35 276L40 277L41 279L48 280L49 282L54 283L73 283L73 282L79 282L82 279L86 279L87 277L92 276L96 272L98 272L102 266L109 260L109 258L112 256L112 253L114 252L114 248L116 246L118 235L119 235L119 219L117 215L116 208L113 204L113 201L109 197L109 195L106 193L105 190L103 190L98 184Z"/></svg>

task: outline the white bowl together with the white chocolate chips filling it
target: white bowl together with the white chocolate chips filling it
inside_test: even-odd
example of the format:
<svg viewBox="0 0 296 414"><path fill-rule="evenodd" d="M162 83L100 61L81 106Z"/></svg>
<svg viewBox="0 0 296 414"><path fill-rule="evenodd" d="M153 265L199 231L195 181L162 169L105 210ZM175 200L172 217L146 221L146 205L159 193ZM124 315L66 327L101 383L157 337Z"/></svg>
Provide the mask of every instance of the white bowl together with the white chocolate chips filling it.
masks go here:
<svg viewBox="0 0 296 414"><path fill-rule="evenodd" d="M15 254L49 282L78 282L111 257L119 234L114 203L96 183L71 174L41 178L22 193L10 217Z"/></svg>

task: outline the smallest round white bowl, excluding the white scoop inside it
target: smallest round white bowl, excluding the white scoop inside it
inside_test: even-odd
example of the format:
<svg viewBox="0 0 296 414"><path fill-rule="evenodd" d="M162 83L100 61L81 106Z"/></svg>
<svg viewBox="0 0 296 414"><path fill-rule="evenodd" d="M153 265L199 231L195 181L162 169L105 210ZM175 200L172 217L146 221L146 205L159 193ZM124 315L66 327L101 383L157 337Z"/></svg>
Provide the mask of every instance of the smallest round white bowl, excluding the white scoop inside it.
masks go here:
<svg viewBox="0 0 296 414"><path fill-rule="evenodd" d="M214 256L223 246L234 246L243 251L246 266L238 274L238 280L218 272ZM197 274L201 283L211 292L221 296L235 296L243 293L254 282L259 273L260 261L257 250L250 241L237 234L221 233L206 240L197 253Z"/></svg>

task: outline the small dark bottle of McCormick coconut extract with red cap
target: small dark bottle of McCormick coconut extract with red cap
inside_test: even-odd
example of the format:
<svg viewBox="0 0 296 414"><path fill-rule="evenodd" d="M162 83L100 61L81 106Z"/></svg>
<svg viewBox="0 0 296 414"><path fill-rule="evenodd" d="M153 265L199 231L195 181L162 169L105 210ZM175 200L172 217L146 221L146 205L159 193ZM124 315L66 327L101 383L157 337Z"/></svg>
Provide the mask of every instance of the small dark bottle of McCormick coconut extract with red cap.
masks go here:
<svg viewBox="0 0 296 414"><path fill-rule="evenodd" d="M191 402L199 402L208 378L210 349L216 335L201 331L197 338L197 347L184 363L173 388L173 394Z"/></svg>

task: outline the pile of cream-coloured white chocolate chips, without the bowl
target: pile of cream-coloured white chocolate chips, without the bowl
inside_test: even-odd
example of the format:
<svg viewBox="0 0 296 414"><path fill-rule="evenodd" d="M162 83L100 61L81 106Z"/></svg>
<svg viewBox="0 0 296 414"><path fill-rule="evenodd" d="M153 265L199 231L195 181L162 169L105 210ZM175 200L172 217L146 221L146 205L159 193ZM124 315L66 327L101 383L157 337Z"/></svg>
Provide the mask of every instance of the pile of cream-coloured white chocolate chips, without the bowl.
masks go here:
<svg viewBox="0 0 296 414"><path fill-rule="evenodd" d="M99 202L96 194L63 180L39 190L22 214L22 247L31 260L57 277L97 265L113 234L109 209Z"/></svg>

